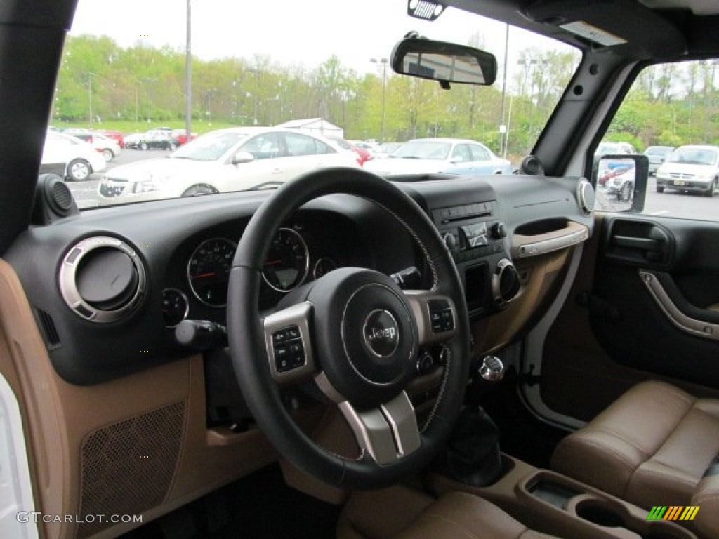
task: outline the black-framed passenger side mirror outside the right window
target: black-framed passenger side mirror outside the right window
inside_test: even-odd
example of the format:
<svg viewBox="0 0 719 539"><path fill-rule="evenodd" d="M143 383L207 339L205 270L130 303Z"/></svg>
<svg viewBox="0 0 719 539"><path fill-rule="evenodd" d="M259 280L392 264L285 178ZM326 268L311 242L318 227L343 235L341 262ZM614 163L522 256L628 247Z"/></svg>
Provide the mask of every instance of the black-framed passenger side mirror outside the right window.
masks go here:
<svg viewBox="0 0 719 539"><path fill-rule="evenodd" d="M642 154L603 155L592 171L601 211L640 213L649 182L649 157Z"/></svg>

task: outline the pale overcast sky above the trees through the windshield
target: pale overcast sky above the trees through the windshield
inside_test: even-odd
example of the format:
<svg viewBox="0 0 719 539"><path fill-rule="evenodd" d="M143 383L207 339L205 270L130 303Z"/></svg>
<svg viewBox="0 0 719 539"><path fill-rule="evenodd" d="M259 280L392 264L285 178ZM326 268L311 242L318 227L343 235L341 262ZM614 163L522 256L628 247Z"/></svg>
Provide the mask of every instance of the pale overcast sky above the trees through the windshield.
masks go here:
<svg viewBox="0 0 719 539"><path fill-rule="evenodd" d="M186 0L79 0L70 34L107 35L124 47L144 42L184 51L186 5ZM378 69L370 58L388 57L395 42L416 30L461 43L479 32L481 48L503 64L505 25L452 8L433 23L408 17L406 0L193 0L191 5L192 51L204 60L260 55L314 68L334 54L367 73ZM514 38L518 31L512 32ZM536 37L518 40L521 47L529 43L536 44ZM517 53L510 51L510 68Z"/></svg>

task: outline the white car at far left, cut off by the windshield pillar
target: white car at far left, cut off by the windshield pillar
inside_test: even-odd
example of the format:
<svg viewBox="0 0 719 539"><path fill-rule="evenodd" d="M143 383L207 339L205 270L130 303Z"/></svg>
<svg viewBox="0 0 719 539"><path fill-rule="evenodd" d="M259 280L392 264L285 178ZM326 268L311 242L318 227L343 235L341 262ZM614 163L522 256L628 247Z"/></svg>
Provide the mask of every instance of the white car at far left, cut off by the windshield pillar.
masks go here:
<svg viewBox="0 0 719 539"><path fill-rule="evenodd" d="M55 172L66 180L87 180L105 170L106 162L92 144L57 131L48 131L40 172Z"/></svg>

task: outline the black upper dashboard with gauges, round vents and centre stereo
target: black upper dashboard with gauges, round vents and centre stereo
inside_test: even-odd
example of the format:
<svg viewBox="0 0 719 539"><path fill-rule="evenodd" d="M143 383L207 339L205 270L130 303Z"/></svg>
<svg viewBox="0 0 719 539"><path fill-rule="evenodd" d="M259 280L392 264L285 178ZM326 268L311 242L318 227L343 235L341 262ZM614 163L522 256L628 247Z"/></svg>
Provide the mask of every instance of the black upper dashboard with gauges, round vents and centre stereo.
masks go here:
<svg viewBox="0 0 719 539"><path fill-rule="evenodd" d="M481 321L520 303L531 287L534 262L566 252L592 229L591 193L580 178L403 179L416 180L398 185L426 211L452 252L480 341L487 337ZM88 385L149 369L191 353L175 338L181 321L223 325L234 249L267 195L102 208L27 231L6 258L22 280L60 377ZM262 268L260 310L338 267L399 279L414 272L413 286L431 285L411 234L362 198L319 198L268 234L274 239ZM37 252L52 263L35 264ZM536 314L537 308L523 305L522 312Z"/></svg>

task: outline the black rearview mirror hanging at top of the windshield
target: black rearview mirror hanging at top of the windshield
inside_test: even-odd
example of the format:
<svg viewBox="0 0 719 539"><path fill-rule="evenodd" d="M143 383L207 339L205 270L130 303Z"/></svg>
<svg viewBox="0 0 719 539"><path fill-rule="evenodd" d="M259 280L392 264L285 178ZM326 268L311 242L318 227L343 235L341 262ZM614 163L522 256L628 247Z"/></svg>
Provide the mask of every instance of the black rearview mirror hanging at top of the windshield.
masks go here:
<svg viewBox="0 0 719 539"><path fill-rule="evenodd" d="M441 83L490 86L497 78L497 59L490 52L417 37L398 42L390 63L396 73Z"/></svg>

